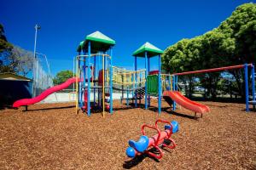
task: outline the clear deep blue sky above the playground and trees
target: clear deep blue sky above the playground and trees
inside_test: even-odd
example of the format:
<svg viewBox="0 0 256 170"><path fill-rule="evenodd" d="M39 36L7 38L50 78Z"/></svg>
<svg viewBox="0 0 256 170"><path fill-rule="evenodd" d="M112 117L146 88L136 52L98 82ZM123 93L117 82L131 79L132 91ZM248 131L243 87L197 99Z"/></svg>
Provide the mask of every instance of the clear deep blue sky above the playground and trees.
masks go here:
<svg viewBox="0 0 256 170"><path fill-rule="evenodd" d="M51 71L72 70L73 56L84 37L102 31L116 41L113 65L133 68L133 51L151 42L166 49L182 38L211 31L247 0L8 0L1 2L0 23L9 42L46 54ZM255 3L255 2L254 2ZM143 59L138 59L143 68ZM157 59L150 61L152 70Z"/></svg>

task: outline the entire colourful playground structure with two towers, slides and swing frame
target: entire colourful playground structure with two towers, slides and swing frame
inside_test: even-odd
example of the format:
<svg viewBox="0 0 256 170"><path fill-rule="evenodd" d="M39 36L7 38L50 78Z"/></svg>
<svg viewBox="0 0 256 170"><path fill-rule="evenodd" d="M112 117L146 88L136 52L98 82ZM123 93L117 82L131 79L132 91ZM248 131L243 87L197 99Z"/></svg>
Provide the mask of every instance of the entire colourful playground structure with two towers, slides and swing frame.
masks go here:
<svg viewBox="0 0 256 170"><path fill-rule="evenodd" d="M105 116L105 111L113 114L113 90L116 90L122 93L120 101L122 103L122 100L125 99L127 106L129 105L129 101L132 100L135 107L137 107L137 102L139 101L139 104L141 104L141 100L144 98L144 108L148 109L150 107L151 97L156 97L158 99L159 114L161 112L161 99L163 98L172 106L173 111L176 110L176 104L178 104L190 111L194 111L195 116L196 113L201 113L202 116L203 113L209 112L210 109L178 93L177 77L195 73L244 68L246 111L249 111L250 104L253 104L253 107L255 107L255 88L252 88L252 101L249 101L248 93L248 68L251 69L252 80L255 79L254 66L252 64L162 74L160 54L163 54L163 51L151 43L146 42L132 54L134 56L134 71L127 71L113 66L112 55L114 45L115 41L103 35L100 31L86 36L85 40L80 42L77 48L78 55L75 58L76 77L73 77L73 81L67 81L62 86L59 85L62 88L59 88L59 86L49 88L33 99L18 100L13 106L33 105L46 98L47 95L65 87L67 88L67 84L70 85L76 82L76 113L81 110L86 112L88 116L90 116L91 111L102 111L102 116ZM158 70L150 71L150 59L154 56L158 57ZM143 70L137 70L138 58L145 59L145 68ZM255 87L254 81L252 81L252 87ZM124 93L126 93L126 97L124 97Z"/></svg>

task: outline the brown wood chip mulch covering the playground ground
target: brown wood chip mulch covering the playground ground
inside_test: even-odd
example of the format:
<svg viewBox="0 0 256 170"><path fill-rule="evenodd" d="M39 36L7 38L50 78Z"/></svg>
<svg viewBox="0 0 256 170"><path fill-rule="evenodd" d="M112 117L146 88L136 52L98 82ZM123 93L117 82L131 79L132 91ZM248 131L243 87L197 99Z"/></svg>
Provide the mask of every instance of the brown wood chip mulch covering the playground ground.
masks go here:
<svg viewBox="0 0 256 170"><path fill-rule="evenodd" d="M76 115L73 103L2 110L0 169L256 169L256 112L245 112L242 104L201 103L211 113L197 120L165 102L160 116L155 108L127 109L119 101L105 118ZM139 139L143 123L158 118L179 122L172 135L177 147L164 150L160 161L147 155L127 160L128 140Z"/></svg>

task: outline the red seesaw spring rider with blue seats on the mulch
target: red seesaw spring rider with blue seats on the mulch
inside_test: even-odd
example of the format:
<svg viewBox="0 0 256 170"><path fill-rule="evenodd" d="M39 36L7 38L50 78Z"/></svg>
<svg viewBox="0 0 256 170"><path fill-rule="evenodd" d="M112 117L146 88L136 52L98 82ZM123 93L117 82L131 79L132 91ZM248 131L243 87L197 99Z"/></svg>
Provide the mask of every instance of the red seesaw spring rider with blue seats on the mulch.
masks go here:
<svg viewBox="0 0 256 170"><path fill-rule="evenodd" d="M165 130L160 132L160 129L157 126L158 122L164 122L167 123L165 125ZM151 129L154 129L157 131L157 134L155 134L153 137L148 138L148 136L145 135L144 128L148 127ZM154 124L154 126L149 126L147 124L143 124L142 126L142 133L143 136L140 137L140 139L136 142L134 140L129 140L129 147L126 149L126 155L128 157L135 157L138 155L141 155L143 153L147 153L149 156L154 156L157 159L160 159L164 153L160 149L161 147L167 147L170 149L174 149L176 144L173 139L171 139L172 133L177 133L178 131L178 123L176 121L168 122L164 120L157 120ZM164 141L169 140L171 142L170 145L165 144ZM153 152L149 151L149 149L154 148L155 150L159 151L159 154L154 154Z"/></svg>

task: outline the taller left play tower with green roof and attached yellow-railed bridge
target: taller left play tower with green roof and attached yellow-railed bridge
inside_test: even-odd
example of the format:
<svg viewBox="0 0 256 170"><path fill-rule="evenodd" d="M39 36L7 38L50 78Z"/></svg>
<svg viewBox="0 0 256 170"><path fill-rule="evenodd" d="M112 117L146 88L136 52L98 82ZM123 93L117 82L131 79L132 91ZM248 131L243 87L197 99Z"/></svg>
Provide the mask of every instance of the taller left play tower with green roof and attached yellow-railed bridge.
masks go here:
<svg viewBox="0 0 256 170"><path fill-rule="evenodd" d="M112 114L113 89L123 92L124 89L122 88L125 86L127 94L132 91L134 95L136 89L143 86L145 82L143 70L126 71L112 65L114 44L113 39L99 31L88 35L83 42L80 42L77 50L79 54L76 57L76 77L77 80L82 81L76 82L77 113L82 110L90 116L90 111L102 110L102 116L105 116L107 109ZM96 65L96 57L100 58L98 65ZM100 65L101 60L102 65ZM98 72L98 77L96 77L96 72ZM137 77L140 77L139 81L137 81ZM93 91L93 99L90 99L91 90ZM92 105L90 101L93 101Z"/></svg>

